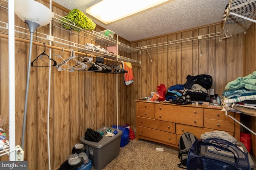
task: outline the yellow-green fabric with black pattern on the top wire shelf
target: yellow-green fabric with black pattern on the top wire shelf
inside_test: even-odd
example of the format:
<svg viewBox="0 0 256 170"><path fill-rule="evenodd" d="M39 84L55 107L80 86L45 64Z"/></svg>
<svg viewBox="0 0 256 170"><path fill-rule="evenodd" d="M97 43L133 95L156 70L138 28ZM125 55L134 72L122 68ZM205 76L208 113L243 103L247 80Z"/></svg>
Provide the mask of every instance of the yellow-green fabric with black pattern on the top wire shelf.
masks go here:
<svg viewBox="0 0 256 170"><path fill-rule="evenodd" d="M61 18L60 20L64 21L62 23L65 29L74 29L78 32L81 31L81 29L78 29L77 27L89 30L93 30L96 27L96 24L92 21L92 19L87 17L82 11L77 8L71 10L67 16ZM72 26L74 25L73 22L75 23L76 27Z"/></svg>

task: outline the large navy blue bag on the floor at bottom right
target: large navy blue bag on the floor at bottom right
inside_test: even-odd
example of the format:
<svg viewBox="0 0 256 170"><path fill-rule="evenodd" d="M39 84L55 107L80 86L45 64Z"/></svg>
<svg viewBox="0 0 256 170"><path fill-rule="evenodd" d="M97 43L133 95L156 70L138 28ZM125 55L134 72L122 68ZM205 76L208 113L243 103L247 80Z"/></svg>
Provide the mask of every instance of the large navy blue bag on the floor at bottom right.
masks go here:
<svg viewBox="0 0 256 170"><path fill-rule="evenodd" d="M187 170L250 170L248 154L223 139L197 139L188 152Z"/></svg>

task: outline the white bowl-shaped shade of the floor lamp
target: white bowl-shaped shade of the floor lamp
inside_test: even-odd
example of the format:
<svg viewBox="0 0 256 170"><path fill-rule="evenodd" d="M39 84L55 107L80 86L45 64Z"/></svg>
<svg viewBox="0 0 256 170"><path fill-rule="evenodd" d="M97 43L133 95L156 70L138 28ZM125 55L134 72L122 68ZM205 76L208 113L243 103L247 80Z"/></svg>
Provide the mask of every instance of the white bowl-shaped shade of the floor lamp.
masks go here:
<svg viewBox="0 0 256 170"><path fill-rule="evenodd" d="M47 25L53 17L52 11L34 0L14 0L14 12L22 20Z"/></svg>

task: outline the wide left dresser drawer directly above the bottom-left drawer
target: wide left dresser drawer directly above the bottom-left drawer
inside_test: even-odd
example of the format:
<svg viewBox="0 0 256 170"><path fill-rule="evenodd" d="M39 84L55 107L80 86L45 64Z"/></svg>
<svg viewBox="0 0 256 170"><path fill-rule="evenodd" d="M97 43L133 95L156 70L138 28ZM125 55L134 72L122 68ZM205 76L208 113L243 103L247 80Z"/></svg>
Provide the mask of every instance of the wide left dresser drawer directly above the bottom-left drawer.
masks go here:
<svg viewBox="0 0 256 170"><path fill-rule="evenodd" d="M155 119L148 119L145 117L137 117L137 125L150 127L152 129L158 129L160 131L166 131L169 133L175 133L175 123L168 121L160 121Z"/></svg>

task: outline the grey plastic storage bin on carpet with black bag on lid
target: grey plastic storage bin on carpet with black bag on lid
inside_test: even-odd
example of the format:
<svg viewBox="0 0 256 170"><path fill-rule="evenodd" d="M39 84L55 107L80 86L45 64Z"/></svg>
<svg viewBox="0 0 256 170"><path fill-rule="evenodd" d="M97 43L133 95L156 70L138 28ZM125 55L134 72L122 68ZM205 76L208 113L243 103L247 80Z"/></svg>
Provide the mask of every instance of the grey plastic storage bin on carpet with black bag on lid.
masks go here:
<svg viewBox="0 0 256 170"><path fill-rule="evenodd" d="M102 127L96 131L104 132L108 128L110 127ZM92 160L92 166L97 170L104 168L119 155L122 131L118 130L113 137L106 137L106 134L104 132L103 138L99 142L87 141L84 137L80 138L81 143L86 145L86 154Z"/></svg>

